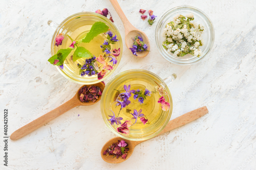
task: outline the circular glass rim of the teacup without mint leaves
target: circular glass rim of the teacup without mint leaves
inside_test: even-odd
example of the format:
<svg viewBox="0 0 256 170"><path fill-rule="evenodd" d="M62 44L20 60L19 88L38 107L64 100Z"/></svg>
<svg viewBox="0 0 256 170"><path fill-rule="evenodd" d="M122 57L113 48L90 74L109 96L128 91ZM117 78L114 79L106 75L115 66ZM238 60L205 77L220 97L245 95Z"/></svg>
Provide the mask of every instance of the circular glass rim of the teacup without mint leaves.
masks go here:
<svg viewBox="0 0 256 170"><path fill-rule="evenodd" d="M110 125L109 121L108 121L108 120L106 119L106 117L105 117L105 114L104 114L104 110L105 110L105 109L103 108L103 104L104 104L104 103L103 103L103 102L104 102L103 99L104 99L104 97L101 98L101 101L100 101L101 115L102 115L103 121L104 121L104 123L106 124L106 126L108 126L108 128L109 128L112 132L114 132L114 134L118 135L119 137L124 138L124 139L127 139L127 140L133 140L133 141L147 140L147 139L151 139L151 138L155 137L156 135L158 135L158 134L165 128L165 126L168 124L168 122L169 122L169 120L170 120L170 117L171 117L171 115L172 115L172 110L173 110L172 95L171 95L170 90L169 90L168 86L166 85L166 83L163 81L163 79L161 79L161 77L159 77L159 76L156 75L155 73L153 73L153 72L151 72L151 71L148 71L148 70L143 70L143 69L131 69L131 70L126 70L126 71L123 71L123 72L119 73L118 75L114 76L114 77L108 82L108 84L106 84L106 86L105 86L105 88L104 88L104 90L103 90L103 92L102 92L102 96L105 96L105 95L106 95L105 93L107 93L106 90L108 89L109 85L110 85L111 83L113 83L116 79L118 79L118 77L120 77L121 75L126 74L126 73L137 72L137 71L139 71L139 72L141 72L141 73L146 72L146 73L148 73L148 74L151 74L151 75L155 76L157 79L161 80L161 81L164 83L165 87L166 87L166 91L167 91L168 96L169 96L169 99L170 99L170 109L169 109L169 112L168 112L168 117L167 117L167 119L165 120L165 122L162 123L162 127L159 128L157 131L155 131L154 134L152 134L152 135L150 135L150 136L147 136L147 137L142 137L142 138L130 138L129 136L124 136L124 135L122 135L122 134L116 132L113 128L111 128L112 125Z"/></svg>

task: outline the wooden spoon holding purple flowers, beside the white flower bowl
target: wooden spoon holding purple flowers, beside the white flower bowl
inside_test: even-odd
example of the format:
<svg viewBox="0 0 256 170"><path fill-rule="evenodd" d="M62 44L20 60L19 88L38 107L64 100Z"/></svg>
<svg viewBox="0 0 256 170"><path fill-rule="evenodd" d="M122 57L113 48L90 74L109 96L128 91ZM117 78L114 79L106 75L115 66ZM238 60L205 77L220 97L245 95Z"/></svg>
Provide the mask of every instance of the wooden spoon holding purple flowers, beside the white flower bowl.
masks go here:
<svg viewBox="0 0 256 170"><path fill-rule="evenodd" d="M119 15L119 17L121 18L121 20L124 24L126 47L132 48L132 45L134 42L133 38L135 38L135 36L139 35L138 33L140 33L143 38L143 42L145 44L147 44L147 46L148 46L148 48L147 48L148 51L140 51L140 52L137 52L136 54L137 54L137 57L139 57L139 58L146 57L146 55L148 55L148 53L150 51L150 43L148 41L146 34L144 32L142 32L141 30L138 30L137 28L133 27L133 25L125 17L124 12L122 11L120 5L118 4L118 2L116 0L110 0L110 2L113 5L113 7L115 8L117 14Z"/></svg>

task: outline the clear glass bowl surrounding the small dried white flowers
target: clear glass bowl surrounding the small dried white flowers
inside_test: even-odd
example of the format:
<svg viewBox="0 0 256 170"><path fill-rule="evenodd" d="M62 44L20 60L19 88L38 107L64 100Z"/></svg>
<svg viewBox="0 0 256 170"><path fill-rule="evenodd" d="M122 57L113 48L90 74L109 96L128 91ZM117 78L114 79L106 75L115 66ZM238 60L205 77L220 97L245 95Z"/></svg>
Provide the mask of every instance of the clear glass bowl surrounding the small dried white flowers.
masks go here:
<svg viewBox="0 0 256 170"><path fill-rule="evenodd" d="M202 24L205 27L204 32L202 33L202 42L204 44L199 47L199 49L202 50L202 53L200 57L193 56L191 54L187 54L183 57L175 57L172 54L168 54L167 50L163 47L162 44L164 41L164 37L162 36L162 32L166 24L170 21L173 21L173 18L177 14L186 16L189 13L194 14L195 22L197 22L198 24ZM165 12L164 15L159 19L156 26L155 38L157 48L165 59L174 64L190 65L202 60L211 50L214 44L214 27L210 18L200 9L191 6L178 6Z"/></svg>

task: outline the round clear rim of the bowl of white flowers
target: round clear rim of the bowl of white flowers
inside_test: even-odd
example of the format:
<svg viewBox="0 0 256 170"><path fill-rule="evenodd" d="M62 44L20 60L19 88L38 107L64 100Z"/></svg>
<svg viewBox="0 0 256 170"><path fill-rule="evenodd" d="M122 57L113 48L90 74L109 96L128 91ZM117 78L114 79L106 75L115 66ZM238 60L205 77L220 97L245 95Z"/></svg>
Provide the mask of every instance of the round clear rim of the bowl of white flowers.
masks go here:
<svg viewBox="0 0 256 170"><path fill-rule="evenodd" d="M169 57L169 55L165 54L165 53L163 52L163 50L165 50L165 49L162 49L161 45L159 45L159 43L158 43L158 39L159 39L160 37L158 36L159 33L157 32L157 29L160 29L160 25L161 25L161 23L163 22L163 20L165 19L165 17L168 16L170 13L175 12L175 11L177 11L177 10L179 10L179 9L183 9L183 8L189 9L189 10L193 9L193 10L197 11L199 14L201 14L201 16L202 16L206 21L208 20L207 23L208 23L208 25L209 25L209 27L210 27L209 32L210 32L210 35L211 35L211 38L212 38L211 44L207 47L208 50L203 54L203 56L199 57L197 60L192 60L192 61L188 61L188 60L177 61L177 60L173 59L173 57ZM159 31L160 31L160 30L159 30ZM168 60L169 62L172 62L172 63L174 63L174 64L178 64L178 65L191 65L191 64L195 64L195 63L199 62L200 60L202 60L203 58L205 58L205 56L210 52L210 50L212 49L212 47L213 47L213 45L214 45L214 40L215 40L215 30L214 30L214 26L213 26L213 24L212 24L212 21L211 21L210 18L205 14L205 12L203 12L202 10L200 10L200 9L198 9L198 8L195 8L195 7L193 7L193 6L177 6L177 7L174 7L174 8L172 8L172 9L166 11L166 12L162 15L162 17L159 19L159 21L157 22L157 25L156 25L155 41L156 41L157 48L158 48L159 52L161 53L161 55L162 55L166 60Z"/></svg>

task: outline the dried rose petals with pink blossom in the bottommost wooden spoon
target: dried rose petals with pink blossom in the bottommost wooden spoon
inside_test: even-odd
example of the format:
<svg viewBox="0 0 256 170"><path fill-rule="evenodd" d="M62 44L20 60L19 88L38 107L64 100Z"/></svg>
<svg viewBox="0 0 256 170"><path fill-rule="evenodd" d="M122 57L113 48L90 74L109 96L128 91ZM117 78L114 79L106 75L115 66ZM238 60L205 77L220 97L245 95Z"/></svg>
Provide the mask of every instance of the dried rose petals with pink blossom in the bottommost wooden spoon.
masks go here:
<svg viewBox="0 0 256 170"><path fill-rule="evenodd" d="M116 158L123 158L125 159L128 152L129 148L127 148L127 143L124 140L118 140L118 142L113 143L112 145L109 146L104 152L103 155L106 155L107 157L109 155L114 155L112 158L116 156ZM126 148L125 148L126 147Z"/></svg>

